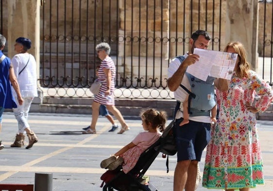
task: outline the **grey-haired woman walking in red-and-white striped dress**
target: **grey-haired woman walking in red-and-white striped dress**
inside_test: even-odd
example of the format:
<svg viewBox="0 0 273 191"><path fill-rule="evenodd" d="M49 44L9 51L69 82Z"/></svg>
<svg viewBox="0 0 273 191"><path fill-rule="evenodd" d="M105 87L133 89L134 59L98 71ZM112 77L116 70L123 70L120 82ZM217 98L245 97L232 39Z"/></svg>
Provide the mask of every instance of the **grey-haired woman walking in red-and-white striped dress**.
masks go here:
<svg viewBox="0 0 273 191"><path fill-rule="evenodd" d="M99 59L102 60L98 70L98 81L102 83L102 86L92 103L92 121L90 128L83 131L83 134L96 134L95 126L99 117L99 107L101 104L106 105L109 112L111 112L120 122L122 128L118 134L122 134L129 130L129 127L124 121L120 111L115 107L113 92L115 87L116 68L113 60L109 56L110 46L108 43L102 42L96 46L96 51Z"/></svg>

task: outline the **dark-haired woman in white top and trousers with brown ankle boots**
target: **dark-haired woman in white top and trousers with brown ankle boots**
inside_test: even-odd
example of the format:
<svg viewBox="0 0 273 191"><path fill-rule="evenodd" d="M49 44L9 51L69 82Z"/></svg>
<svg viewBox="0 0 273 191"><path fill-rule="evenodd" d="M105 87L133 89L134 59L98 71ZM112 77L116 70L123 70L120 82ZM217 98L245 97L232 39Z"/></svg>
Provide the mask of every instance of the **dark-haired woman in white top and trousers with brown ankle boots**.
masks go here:
<svg viewBox="0 0 273 191"><path fill-rule="evenodd" d="M22 105L18 105L17 108L13 108L15 118L18 121L18 134L16 140L11 147L22 147L24 145L24 131L27 133L29 144L26 149L33 146L38 141L35 133L30 129L27 122L28 112L34 97L37 97L37 77L36 77L36 60L33 55L27 51L31 48L31 40L24 37L16 39L14 50L16 54L11 63L14 67L15 75L18 79L21 95L24 99ZM17 97L13 89L14 97ZM17 100L17 99L16 99Z"/></svg>

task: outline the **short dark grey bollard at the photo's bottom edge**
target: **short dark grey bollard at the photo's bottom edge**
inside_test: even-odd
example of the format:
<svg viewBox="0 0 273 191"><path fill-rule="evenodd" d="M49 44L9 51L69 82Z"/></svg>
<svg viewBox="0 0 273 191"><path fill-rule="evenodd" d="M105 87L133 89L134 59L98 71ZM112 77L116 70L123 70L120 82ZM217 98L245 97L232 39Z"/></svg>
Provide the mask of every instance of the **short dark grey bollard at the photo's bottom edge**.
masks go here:
<svg viewBox="0 0 273 191"><path fill-rule="evenodd" d="M35 173L35 191L52 191L52 173Z"/></svg>

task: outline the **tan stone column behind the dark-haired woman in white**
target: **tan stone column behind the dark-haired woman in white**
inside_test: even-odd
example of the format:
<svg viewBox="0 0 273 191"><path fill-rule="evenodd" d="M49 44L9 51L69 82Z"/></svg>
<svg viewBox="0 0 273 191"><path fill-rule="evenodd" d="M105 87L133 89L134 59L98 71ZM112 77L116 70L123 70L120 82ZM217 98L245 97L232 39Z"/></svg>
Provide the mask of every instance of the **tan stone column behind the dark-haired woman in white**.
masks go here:
<svg viewBox="0 0 273 191"><path fill-rule="evenodd" d="M29 38L32 47L28 51L36 59L37 77L40 68L40 3L41 0L8 0L8 56L12 58L15 40Z"/></svg>

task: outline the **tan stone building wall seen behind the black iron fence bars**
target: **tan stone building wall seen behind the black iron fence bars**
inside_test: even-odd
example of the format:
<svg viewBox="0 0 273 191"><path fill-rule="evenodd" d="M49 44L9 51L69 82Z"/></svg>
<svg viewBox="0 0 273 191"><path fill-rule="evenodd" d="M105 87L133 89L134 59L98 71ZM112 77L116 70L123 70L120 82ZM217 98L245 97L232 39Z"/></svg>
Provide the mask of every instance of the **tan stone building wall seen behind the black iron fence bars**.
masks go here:
<svg viewBox="0 0 273 191"><path fill-rule="evenodd" d="M95 44L105 40L111 43L112 54L117 56L114 59L118 64L119 76L130 78L133 85L137 84L135 77L151 77L158 79L157 83L162 81L165 87L170 59L188 51L188 40L193 31L198 28L207 30L213 37L210 49L223 50L227 43L226 31L230 29L226 28L226 1L221 2L46 0L45 3L51 3L50 6L40 8L40 40L43 42L45 39L40 46L43 46L41 51L44 56L41 60L46 62L43 66L48 66L45 76L50 72L56 74L55 70L63 68L64 63L73 65L70 68L76 74L82 68L85 68L84 72L87 69L94 73L93 66L87 66L87 63L95 62ZM2 0L2 3L3 7L7 6L7 0ZM266 26L266 39L272 39L272 3L266 3L266 23L263 22L264 5L259 3L258 53L271 56L271 46L266 46L263 51L263 26ZM7 9L4 8L2 33L6 37L7 15ZM23 22L27 25L26 20ZM221 25L213 25L213 22ZM66 58L63 58L64 53ZM57 54L60 55L58 58L61 63L52 61ZM53 65L49 66L51 62ZM149 86L154 82L148 80L147 83Z"/></svg>

